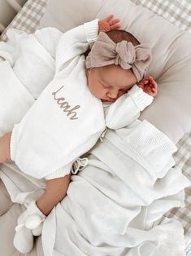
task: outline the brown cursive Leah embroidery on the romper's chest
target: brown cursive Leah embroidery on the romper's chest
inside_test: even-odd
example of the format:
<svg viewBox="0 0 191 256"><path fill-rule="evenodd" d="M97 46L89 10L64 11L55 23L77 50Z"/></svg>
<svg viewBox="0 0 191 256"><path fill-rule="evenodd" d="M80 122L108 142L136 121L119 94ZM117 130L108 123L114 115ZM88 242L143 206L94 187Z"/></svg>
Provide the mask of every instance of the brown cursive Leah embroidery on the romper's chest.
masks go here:
<svg viewBox="0 0 191 256"><path fill-rule="evenodd" d="M60 87L59 90L61 90L63 88ZM57 90L56 92L53 92L52 95L54 95L54 99L57 100L57 104L60 105L60 108L63 108L63 112L66 112L67 113L67 116L70 116L72 115L72 117L70 117L70 119L72 120L75 120L75 119L78 119L78 117L76 117L77 113L76 113L76 109L80 108L80 105L76 105L74 108L71 108L71 106L68 104L68 102L66 101L65 98L56 98L55 95L58 93ZM69 109L71 108L71 109Z"/></svg>

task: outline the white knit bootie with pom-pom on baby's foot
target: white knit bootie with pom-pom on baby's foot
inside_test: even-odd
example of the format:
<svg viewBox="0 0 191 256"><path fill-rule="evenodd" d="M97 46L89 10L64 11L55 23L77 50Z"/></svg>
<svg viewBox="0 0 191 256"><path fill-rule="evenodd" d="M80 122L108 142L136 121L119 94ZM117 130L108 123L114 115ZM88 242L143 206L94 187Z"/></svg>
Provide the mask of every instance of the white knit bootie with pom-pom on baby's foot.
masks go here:
<svg viewBox="0 0 191 256"><path fill-rule="evenodd" d="M27 254L33 249L33 236L40 236L46 215L37 208L36 202L32 201L27 210L17 220L13 244L22 254Z"/></svg>

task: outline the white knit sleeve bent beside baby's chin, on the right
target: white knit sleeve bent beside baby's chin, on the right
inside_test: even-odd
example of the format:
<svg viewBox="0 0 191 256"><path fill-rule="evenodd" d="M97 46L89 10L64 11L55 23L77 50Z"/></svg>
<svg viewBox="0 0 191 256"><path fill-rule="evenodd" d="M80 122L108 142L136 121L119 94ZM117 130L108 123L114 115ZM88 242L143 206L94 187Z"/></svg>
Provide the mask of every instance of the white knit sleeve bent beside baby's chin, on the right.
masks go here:
<svg viewBox="0 0 191 256"><path fill-rule="evenodd" d="M143 109L150 105L153 97L146 94L137 85L111 104L106 114L106 126L117 130L135 121Z"/></svg>

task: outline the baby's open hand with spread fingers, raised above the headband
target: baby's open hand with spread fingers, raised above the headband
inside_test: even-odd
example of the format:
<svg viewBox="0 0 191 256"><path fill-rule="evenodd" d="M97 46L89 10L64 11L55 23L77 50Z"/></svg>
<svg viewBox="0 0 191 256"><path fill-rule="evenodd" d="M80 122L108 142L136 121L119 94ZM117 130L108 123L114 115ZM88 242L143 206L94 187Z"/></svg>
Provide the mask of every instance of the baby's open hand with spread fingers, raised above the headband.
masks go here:
<svg viewBox="0 0 191 256"><path fill-rule="evenodd" d="M99 20L99 22L98 22L98 26L99 26L98 33L100 33L100 32L106 33L106 32L111 31L113 29L119 29L120 28L119 19L112 20L113 17L114 17L114 15L111 14L108 17L106 17L106 19Z"/></svg>

